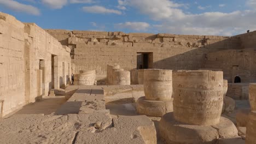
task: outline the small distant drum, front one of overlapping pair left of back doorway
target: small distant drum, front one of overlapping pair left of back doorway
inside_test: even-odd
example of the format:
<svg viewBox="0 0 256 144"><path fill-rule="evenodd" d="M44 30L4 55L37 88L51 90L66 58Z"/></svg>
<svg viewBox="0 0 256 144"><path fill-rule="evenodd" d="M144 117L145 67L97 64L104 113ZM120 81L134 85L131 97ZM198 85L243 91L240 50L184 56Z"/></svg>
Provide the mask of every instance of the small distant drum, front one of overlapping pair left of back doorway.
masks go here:
<svg viewBox="0 0 256 144"><path fill-rule="evenodd" d="M114 71L113 85L131 85L130 71Z"/></svg>

